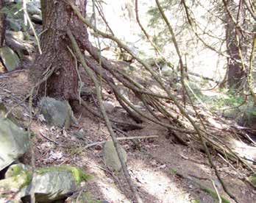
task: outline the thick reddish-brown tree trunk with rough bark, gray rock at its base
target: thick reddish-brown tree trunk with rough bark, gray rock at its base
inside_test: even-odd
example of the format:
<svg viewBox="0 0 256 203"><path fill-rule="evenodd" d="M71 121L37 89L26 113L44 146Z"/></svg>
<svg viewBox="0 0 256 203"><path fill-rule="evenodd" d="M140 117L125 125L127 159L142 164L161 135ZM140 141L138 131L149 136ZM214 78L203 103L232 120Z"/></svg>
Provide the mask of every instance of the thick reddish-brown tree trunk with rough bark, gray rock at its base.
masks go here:
<svg viewBox="0 0 256 203"><path fill-rule="evenodd" d="M87 0L73 2L85 15ZM38 53L35 57L30 76L38 82L47 70L54 68L54 74L40 86L39 93L67 100L77 99L78 75L74 57L68 51L71 43L66 31L71 29L80 49L85 49L85 44L89 43L87 29L64 1L41 0L41 7L44 32L40 45L43 54Z"/></svg>

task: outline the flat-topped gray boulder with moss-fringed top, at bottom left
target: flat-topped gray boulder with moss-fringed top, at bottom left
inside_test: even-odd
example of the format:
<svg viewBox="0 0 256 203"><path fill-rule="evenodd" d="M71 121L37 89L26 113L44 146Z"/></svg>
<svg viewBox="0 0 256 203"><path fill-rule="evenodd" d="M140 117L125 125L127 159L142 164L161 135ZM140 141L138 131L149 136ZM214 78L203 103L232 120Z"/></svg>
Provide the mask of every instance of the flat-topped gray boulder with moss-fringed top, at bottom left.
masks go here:
<svg viewBox="0 0 256 203"><path fill-rule="evenodd" d="M23 188L21 196L24 200L29 199L33 190L36 202L54 202L74 193L80 182L87 179L88 176L80 169L71 166L40 168L36 170L33 185Z"/></svg>

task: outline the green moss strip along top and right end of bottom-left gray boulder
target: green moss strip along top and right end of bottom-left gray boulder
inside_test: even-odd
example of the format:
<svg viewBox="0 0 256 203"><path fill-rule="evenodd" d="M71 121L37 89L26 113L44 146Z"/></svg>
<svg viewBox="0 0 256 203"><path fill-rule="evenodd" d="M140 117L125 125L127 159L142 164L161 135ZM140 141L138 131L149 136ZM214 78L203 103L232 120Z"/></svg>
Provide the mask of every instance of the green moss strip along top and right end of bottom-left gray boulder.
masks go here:
<svg viewBox="0 0 256 203"><path fill-rule="evenodd" d="M76 168L69 165L60 165L60 166L51 166L48 168L39 168L37 170L38 174L46 174L51 171L69 171L73 174L74 179L76 180L77 184L80 184L82 181L88 181L91 178L90 175L85 174L80 168Z"/></svg>

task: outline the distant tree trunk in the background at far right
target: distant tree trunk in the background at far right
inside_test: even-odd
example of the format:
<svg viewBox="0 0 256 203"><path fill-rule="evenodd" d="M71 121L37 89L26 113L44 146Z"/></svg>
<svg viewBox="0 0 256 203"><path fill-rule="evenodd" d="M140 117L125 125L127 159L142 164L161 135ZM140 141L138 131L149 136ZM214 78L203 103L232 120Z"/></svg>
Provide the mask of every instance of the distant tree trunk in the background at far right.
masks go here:
<svg viewBox="0 0 256 203"><path fill-rule="evenodd" d="M235 13L235 2L232 0L227 1L227 7L230 10L231 14ZM232 19L226 12L226 43L227 43L227 54L230 55L230 58L227 59L227 83L229 88L239 88L241 87L241 82L243 77L245 76L245 71L242 68L241 63L241 56L239 54L239 44L237 37L239 40L242 40L241 35L236 32L235 24L233 23ZM241 16L243 18L243 16Z"/></svg>

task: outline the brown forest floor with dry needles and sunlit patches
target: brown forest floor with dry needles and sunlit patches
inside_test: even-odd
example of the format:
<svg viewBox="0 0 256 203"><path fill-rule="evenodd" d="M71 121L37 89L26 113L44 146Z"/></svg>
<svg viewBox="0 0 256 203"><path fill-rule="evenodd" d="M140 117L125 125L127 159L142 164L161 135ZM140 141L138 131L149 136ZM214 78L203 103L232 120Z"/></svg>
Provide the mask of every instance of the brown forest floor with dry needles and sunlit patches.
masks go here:
<svg viewBox="0 0 256 203"><path fill-rule="evenodd" d="M0 80L0 97L7 107L12 107L29 93L32 84L28 80L28 70L26 69L4 74L4 76ZM116 102L111 94L104 96L104 99ZM88 100L88 105L96 110L92 100ZM29 122L28 106L25 101L13 110L13 114L22 121L24 126ZM102 145L85 149L88 143L109 140L110 135L107 128L99 122L99 118L91 115L78 104L74 108L74 115L78 120L78 125L74 125L68 130L47 127L39 118L33 119L32 131L35 132L35 137L32 138L32 141L36 166L65 164L79 166L93 176L93 179L86 182L81 188L81 190L88 191L92 199L130 202L132 193L130 193L124 175L113 173L104 165ZM112 115L119 121L132 121L122 110L116 110ZM83 129L85 132L85 136L82 138L74 136L74 132L79 129ZM158 135L158 138L141 140L143 151L136 149L129 140L120 142L127 151L129 174L137 186L143 202L218 202L218 199L213 199L197 184L199 182L200 185L214 191L212 181L215 183L218 193L229 199L221 188L213 168L210 167L206 154L193 148L193 144L183 146L176 143L171 137L168 138L166 129L150 122L144 122L143 129L127 133L129 136ZM218 135L216 136L218 137ZM228 136L227 134L227 139ZM239 140L236 142L242 143ZM237 146L241 147L243 152L256 154L255 147L246 144ZM23 157L22 162L30 163L29 153ZM221 160L217 154L213 154L213 162L225 185L235 195L238 202L256 202L256 190L238 178L238 173L248 173L246 169L241 165L235 165L235 169L232 168L231 165L224 163L224 160ZM255 165L252 167L256 168Z"/></svg>

